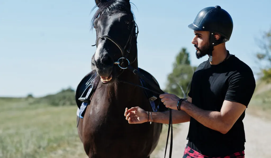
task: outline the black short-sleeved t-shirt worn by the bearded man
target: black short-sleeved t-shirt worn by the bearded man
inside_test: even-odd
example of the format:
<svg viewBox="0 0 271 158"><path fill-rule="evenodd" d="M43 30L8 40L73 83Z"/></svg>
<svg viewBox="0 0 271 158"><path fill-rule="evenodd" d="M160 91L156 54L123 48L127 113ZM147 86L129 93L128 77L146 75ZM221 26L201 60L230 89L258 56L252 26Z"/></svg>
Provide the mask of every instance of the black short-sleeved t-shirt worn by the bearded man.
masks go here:
<svg viewBox="0 0 271 158"><path fill-rule="evenodd" d="M248 106L256 87L252 70L234 55L218 65L209 60L201 63L193 74L188 96L197 107L220 111L223 101ZM205 127L191 117L188 146L206 156L226 156L244 150L246 142L243 119L245 112L226 134Z"/></svg>

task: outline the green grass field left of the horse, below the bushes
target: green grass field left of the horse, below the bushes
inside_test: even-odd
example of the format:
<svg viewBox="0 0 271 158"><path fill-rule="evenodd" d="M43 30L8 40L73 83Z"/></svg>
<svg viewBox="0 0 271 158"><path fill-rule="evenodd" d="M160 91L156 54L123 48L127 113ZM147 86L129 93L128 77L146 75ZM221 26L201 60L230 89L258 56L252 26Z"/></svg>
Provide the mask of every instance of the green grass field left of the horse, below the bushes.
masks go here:
<svg viewBox="0 0 271 158"><path fill-rule="evenodd" d="M76 129L76 106L0 101L0 157L84 157Z"/></svg>

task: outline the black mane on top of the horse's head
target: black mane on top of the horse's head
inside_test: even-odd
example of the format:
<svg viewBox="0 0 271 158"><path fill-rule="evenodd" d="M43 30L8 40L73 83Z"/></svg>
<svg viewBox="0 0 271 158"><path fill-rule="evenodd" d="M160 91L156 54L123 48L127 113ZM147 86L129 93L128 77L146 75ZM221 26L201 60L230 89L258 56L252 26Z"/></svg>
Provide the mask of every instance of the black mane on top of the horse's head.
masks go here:
<svg viewBox="0 0 271 158"><path fill-rule="evenodd" d="M107 0L106 2L102 2L95 6L91 12L96 8L99 7L98 10L95 12L92 18L92 25L91 29L93 29L93 22L96 18L98 18L101 14L118 14L118 13L126 13L133 15L133 11L131 10L132 2L127 2L125 0ZM134 5L134 4L133 4ZM135 6L135 5L134 5Z"/></svg>

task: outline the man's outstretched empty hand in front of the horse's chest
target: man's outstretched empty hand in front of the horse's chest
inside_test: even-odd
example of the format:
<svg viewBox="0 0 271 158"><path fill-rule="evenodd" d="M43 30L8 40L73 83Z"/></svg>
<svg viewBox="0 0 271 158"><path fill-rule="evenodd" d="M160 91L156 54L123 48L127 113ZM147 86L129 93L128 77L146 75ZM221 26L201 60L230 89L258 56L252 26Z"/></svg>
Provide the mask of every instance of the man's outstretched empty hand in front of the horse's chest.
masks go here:
<svg viewBox="0 0 271 158"><path fill-rule="evenodd" d="M139 124L148 122L148 114L140 107L125 108L124 116L129 124Z"/></svg>

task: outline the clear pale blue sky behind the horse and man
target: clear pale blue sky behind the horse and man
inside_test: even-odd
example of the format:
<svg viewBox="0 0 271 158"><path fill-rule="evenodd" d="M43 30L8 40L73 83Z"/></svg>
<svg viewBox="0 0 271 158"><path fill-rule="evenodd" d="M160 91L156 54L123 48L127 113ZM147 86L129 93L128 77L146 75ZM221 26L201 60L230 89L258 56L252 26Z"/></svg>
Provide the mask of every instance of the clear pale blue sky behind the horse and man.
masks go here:
<svg viewBox="0 0 271 158"><path fill-rule="evenodd" d="M139 27L139 67L149 71L162 88L182 47L188 49L194 66L208 59L196 59L193 31L187 25L202 8L215 5L233 18L227 49L247 63L257 78L255 38L271 27L271 1L131 2L137 7L133 12ZM91 47L95 31L89 30L94 5L94 0L0 1L0 96L43 96L76 88L91 71L96 48Z"/></svg>

